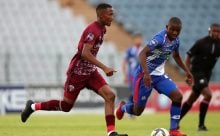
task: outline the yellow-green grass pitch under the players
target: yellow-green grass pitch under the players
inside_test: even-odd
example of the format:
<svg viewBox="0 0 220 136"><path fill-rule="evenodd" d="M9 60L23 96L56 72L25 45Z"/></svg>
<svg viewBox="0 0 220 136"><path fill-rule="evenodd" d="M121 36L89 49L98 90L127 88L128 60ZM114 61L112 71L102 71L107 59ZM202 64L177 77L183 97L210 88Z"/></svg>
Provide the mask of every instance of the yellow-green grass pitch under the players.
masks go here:
<svg viewBox="0 0 220 136"><path fill-rule="evenodd" d="M210 131L197 131L198 113L182 120L181 130L188 136L220 136L220 113L209 112L206 124ZM169 128L169 113L144 114L135 119L116 121L117 130L129 136L150 136L157 127ZM104 115L66 114L32 115L26 123L20 115L0 116L0 136L106 136Z"/></svg>

